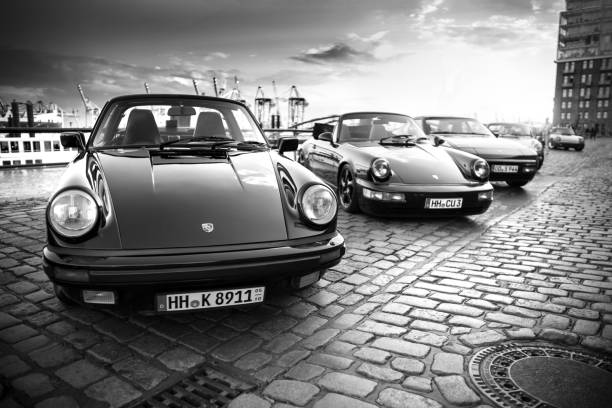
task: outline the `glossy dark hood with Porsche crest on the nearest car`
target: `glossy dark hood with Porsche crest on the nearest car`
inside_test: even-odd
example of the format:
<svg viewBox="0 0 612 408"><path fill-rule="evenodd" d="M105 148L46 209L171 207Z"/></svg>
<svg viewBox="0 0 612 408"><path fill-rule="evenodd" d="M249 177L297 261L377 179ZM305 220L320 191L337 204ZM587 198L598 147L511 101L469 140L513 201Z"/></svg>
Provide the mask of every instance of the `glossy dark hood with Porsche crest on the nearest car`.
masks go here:
<svg viewBox="0 0 612 408"><path fill-rule="evenodd" d="M124 249L287 239L268 152L229 158L99 152Z"/></svg>

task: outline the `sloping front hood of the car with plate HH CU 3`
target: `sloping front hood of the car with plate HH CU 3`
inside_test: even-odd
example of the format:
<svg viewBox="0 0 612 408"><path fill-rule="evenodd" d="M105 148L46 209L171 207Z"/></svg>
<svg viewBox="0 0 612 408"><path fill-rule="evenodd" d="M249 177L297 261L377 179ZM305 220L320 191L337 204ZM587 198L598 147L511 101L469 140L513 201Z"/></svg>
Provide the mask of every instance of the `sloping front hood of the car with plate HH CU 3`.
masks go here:
<svg viewBox="0 0 612 408"><path fill-rule="evenodd" d="M389 161L393 174L406 184L459 184L465 177L455 161L444 149L431 144L409 146L370 145L360 150L372 159L383 157Z"/></svg>

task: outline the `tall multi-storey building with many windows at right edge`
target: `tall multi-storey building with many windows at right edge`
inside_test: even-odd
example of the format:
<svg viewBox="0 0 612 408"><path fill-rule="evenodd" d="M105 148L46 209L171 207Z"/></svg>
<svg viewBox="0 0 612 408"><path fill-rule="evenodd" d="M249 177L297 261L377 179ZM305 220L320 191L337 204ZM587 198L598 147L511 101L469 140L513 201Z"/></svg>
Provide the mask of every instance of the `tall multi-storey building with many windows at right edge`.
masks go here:
<svg viewBox="0 0 612 408"><path fill-rule="evenodd" d="M553 125L612 136L612 0L566 0L555 62Z"/></svg>

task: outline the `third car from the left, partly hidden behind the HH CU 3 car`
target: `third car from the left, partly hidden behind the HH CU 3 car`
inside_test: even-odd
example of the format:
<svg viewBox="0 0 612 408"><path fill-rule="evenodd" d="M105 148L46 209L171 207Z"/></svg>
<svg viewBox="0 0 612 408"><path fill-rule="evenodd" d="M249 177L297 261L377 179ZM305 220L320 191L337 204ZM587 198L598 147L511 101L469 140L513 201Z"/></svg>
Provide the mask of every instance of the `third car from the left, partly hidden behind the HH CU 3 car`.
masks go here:
<svg viewBox="0 0 612 408"><path fill-rule="evenodd" d="M538 155L522 144L496 138L476 119L454 116L420 116L419 126L430 138L443 137L449 146L478 155L491 166L490 181L512 187L527 184L538 170Z"/></svg>

